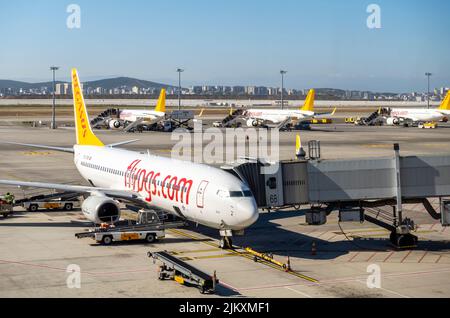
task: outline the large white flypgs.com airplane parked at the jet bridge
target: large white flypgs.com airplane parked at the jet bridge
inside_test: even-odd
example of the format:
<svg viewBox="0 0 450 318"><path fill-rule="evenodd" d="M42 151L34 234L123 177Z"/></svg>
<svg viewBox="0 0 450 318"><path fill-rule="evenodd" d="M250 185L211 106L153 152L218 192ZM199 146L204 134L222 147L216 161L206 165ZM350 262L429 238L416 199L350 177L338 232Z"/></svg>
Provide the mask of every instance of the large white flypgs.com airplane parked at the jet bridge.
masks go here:
<svg viewBox="0 0 450 318"><path fill-rule="evenodd" d="M92 186L11 180L0 180L0 184L88 195L82 211L95 224L119 220L118 200L162 210L220 230L222 248L231 247L233 232L242 232L257 221L258 208L249 187L221 169L115 148L130 142L105 146L92 132L76 69L72 70L72 91L76 145L20 145L73 153L76 168Z"/></svg>

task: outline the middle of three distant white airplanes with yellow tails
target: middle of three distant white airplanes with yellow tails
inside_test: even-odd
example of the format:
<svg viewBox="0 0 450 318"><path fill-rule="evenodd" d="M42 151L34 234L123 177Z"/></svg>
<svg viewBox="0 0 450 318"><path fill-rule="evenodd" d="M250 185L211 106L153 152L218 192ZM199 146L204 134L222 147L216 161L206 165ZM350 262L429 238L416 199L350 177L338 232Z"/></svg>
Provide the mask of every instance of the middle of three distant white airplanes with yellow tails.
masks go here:
<svg viewBox="0 0 450 318"><path fill-rule="evenodd" d="M336 109L328 114L314 112L314 98L315 90L311 89L306 97L305 104L300 109L249 109L243 113L243 116L247 119L247 126L259 127L268 123L283 126L291 120L303 121L335 114Z"/></svg>

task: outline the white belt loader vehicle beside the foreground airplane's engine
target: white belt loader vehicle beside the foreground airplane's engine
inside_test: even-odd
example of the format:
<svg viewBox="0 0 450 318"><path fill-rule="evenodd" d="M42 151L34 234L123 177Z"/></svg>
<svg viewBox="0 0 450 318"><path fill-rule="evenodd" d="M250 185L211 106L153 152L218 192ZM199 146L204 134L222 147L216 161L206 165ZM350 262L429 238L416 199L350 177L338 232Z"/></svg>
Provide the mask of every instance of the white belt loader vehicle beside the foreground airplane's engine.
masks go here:
<svg viewBox="0 0 450 318"><path fill-rule="evenodd" d="M165 237L166 229L183 227L180 221L167 221L156 211L139 211L138 222L128 221L127 224L101 224L92 230L77 233L75 237L91 238L97 243L111 245L113 242L146 241L155 243Z"/></svg>

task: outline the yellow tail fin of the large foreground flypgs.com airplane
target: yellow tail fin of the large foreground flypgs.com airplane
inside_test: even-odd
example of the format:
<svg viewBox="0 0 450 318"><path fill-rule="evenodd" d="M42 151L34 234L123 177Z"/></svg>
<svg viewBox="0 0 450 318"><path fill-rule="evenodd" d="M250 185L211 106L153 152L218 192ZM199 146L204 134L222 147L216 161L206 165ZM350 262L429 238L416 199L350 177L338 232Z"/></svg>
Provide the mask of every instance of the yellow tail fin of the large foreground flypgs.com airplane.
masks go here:
<svg viewBox="0 0 450 318"><path fill-rule="evenodd" d="M77 145L103 147L104 144L92 132L76 69L72 69L72 92Z"/></svg>

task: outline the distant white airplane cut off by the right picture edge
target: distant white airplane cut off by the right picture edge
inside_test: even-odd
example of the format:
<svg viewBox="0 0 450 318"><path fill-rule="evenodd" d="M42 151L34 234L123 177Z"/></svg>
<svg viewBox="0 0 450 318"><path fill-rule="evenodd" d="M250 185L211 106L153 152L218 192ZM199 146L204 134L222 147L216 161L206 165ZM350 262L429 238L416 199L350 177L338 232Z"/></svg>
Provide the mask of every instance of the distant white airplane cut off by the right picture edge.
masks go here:
<svg viewBox="0 0 450 318"><path fill-rule="evenodd" d="M388 125L400 125L401 123L426 123L448 121L450 116L450 91L437 109L427 108L387 108L382 109L382 115L386 116Z"/></svg>

